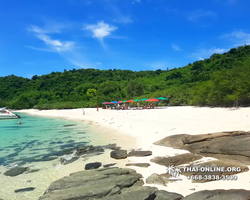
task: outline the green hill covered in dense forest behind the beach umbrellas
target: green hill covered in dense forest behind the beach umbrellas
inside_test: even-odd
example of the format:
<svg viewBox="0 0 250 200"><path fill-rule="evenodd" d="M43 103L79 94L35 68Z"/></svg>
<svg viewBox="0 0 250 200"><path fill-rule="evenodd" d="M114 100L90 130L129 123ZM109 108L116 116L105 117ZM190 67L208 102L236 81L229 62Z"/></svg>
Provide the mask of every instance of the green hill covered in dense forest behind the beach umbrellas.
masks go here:
<svg viewBox="0 0 250 200"><path fill-rule="evenodd" d="M165 71L73 69L32 79L0 77L0 107L15 109L94 107L159 96L170 98L170 105L249 105L250 46Z"/></svg>

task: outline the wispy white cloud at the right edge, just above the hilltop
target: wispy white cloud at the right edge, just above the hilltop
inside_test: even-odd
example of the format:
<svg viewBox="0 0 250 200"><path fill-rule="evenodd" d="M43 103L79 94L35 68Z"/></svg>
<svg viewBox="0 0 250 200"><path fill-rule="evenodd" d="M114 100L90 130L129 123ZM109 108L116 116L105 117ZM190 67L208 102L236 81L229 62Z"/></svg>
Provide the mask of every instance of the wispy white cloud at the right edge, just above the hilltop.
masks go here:
<svg viewBox="0 0 250 200"><path fill-rule="evenodd" d="M244 31L234 31L232 33L221 36L232 41L233 46L250 45L250 33Z"/></svg>

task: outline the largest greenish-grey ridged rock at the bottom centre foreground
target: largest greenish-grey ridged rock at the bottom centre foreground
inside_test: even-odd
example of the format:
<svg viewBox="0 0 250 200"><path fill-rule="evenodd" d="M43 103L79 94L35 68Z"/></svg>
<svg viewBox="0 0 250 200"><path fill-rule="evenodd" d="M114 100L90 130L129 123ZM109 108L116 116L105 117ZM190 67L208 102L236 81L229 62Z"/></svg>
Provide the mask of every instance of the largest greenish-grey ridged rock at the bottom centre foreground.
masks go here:
<svg viewBox="0 0 250 200"><path fill-rule="evenodd" d="M102 168L80 171L52 183L40 200L181 200L180 194L143 187L132 169Z"/></svg>

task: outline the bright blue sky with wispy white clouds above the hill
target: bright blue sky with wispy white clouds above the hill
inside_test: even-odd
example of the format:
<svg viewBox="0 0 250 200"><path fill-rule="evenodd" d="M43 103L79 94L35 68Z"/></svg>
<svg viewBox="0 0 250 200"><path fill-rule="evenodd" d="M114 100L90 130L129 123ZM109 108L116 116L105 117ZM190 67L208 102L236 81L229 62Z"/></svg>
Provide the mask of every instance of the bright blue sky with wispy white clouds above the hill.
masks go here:
<svg viewBox="0 0 250 200"><path fill-rule="evenodd" d="M0 76L182 67L250 44L249 0L1 0Z"/></svg>

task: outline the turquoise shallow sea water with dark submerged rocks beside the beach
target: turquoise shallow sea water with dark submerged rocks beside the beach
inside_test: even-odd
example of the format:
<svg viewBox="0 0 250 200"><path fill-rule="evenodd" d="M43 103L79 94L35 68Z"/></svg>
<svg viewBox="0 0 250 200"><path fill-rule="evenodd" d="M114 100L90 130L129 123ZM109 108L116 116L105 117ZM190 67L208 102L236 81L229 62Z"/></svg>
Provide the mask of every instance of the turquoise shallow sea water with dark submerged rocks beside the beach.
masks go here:
<svg viewBox="0 0 250 200"><path fill-rule="evenodd" d="M82 122L20 115L21 125L19 119L0 120L0 165L53 160L91 143L91 130Z"/></svg>

